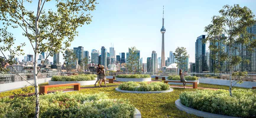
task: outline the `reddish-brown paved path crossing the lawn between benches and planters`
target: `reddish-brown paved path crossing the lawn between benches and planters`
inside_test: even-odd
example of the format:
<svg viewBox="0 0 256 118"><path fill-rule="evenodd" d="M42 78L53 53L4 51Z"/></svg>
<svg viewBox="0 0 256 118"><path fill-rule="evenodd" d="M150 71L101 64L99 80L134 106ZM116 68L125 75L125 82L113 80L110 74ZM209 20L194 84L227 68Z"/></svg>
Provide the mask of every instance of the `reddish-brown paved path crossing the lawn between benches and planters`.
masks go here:
<svg viewBox="0 0 256 118"><path fill-rule="evenodd" d="M161 80L152 80L148 83L151 83L151 82L156 82L156 81L161 81ZM108 81L107 81L108 83ZM113 83L121 83L121 82L118 82L116 80L113 81ZM101 84L102 85L102 88L105 88L104 86L104 83ZM111 85L111 86L108 86L107 87L113 87L113 86L118 86L118 85ZM170 85L171 88L183 88L183 86L173 86L173 85ZM94 86L93 87L81 87L80 89L92 89L92 88L95 88ZM96 86L96 88L99 88L98 86ZM193 89L192 86L186 86L186 89ZM218 89L212 89L212 88L203 88L203 87L197 87L197 89L210 89L210 90L218 90ZM56 91L73 91L74 89L71 88L71 89L59 89L59 90L51 90L51 91L47 91L47 94L48 93L53 93L53 92L56 92ZM35 93L28 93L28 94L20 94L19 96L32 96L34 95ZM13 98L14 96L9 96L10 98Z"/></svg>

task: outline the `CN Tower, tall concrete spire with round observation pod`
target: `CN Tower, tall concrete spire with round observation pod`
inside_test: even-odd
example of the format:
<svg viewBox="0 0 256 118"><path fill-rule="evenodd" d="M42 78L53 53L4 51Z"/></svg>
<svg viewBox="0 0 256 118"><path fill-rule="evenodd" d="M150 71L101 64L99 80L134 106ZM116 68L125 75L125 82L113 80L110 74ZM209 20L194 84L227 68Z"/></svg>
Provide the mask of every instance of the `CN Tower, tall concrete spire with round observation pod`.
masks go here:
<svg viewBox="0 0 256 118"><path fill-rule="evenodd" d="M163 18L163 22L164 22L164 18ZM165 33L165 28L164 26L162 26L161 28L161 33L162 33L162 53L161 53L161 68L163 66L165 66L165 56L164 56L164 33Z"/></svg>

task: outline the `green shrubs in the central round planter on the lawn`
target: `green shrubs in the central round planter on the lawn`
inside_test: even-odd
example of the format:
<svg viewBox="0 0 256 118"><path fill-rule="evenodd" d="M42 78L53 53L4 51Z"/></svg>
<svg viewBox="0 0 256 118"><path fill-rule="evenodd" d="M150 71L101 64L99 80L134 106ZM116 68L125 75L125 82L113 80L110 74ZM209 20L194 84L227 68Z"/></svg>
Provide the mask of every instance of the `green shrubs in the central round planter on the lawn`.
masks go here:
<svg viewBox="0 0 256 118"><path fill-rule="evenodd" d="M146 83L146 82L125 82L119 84L119 89L121 90L127 90L127 91L165 91L169 89L169 85L162 82L152 82L152 83Z"/></svg>

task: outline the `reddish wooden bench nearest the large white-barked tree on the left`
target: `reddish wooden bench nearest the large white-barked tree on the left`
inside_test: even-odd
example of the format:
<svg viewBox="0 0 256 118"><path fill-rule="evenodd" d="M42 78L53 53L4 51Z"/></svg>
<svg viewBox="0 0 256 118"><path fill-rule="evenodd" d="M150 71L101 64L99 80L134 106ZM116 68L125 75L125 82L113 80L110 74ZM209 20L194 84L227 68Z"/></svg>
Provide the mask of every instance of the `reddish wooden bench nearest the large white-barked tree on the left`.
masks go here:
<svg viewBox="0 0 256 118"><path fill-rule="evenodd" d="M72 85L74 85L74 91L80 90L80 83L56 84L56 85L39 86L39 94L47 94L47 88L60 87L60 86L72 86Z"/></svg>

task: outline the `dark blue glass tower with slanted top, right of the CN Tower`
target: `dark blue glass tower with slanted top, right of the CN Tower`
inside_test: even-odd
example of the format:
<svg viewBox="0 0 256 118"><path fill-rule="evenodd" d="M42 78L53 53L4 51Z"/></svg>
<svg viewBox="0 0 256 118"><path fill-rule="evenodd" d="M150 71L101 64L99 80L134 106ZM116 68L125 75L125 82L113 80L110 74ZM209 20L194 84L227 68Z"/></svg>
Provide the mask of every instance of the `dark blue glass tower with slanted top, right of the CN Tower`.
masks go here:
<svg viewBox="0 0 256 118"><path fill-rule="evenodd" d="M197 37L195 42L195 64L197 73L207 71L207 59L205 57L205 43L202 42L203 39L205 39L205 35Z"/></svg>

